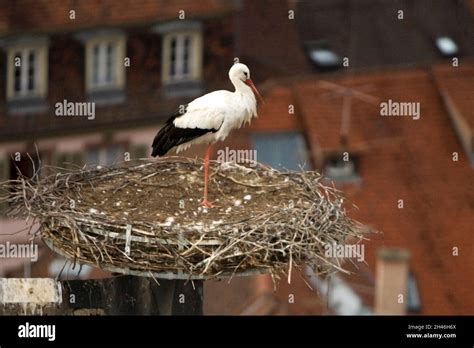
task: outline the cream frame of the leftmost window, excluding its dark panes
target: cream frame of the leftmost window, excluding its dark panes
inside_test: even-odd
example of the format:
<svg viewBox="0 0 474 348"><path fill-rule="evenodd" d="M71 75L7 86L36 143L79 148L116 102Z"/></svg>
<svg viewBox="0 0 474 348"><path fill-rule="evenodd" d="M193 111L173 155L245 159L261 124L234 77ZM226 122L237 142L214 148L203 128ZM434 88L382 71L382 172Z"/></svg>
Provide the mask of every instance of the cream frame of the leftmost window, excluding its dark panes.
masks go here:
<svg viewBox="0 0 474 348"><path fill-rule="evenodd" d="M35 54L34 87L28 89L28 70L30 52ZM20 84L15 91L15 57L20 53ZM7 99L45 98L48 91L48 45L46 41L37 43L16 43L7 47Z"/></svg>

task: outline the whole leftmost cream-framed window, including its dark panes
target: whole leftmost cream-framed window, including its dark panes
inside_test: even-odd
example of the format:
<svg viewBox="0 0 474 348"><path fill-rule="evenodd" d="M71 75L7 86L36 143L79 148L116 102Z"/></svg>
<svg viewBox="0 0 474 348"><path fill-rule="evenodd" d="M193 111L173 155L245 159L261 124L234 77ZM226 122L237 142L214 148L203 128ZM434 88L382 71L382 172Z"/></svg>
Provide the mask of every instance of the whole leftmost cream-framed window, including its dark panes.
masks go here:
<svg viewBox="0 0 474 348"><path fill-rule="evenodd" d="M7 43L6 49L7 100L44 99L48 88L47 40L18 39Z"/></svg>

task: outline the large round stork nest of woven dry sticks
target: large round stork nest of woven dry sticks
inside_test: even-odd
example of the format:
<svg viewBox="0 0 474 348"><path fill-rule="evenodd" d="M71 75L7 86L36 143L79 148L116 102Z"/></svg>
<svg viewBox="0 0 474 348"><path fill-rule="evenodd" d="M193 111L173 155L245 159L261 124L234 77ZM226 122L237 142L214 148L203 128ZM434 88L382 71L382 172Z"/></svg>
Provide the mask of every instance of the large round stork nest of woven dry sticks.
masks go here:
<svg viewBox="0 0 474 348"><path fill-rule="evenodd" d="M363 238L340 192L321 180L312 171L211 161L214 207L205 209L202 162L177 157L20 176L0 184L0 200L81 264L162 278L283 272L290 279L304 263L319 274L343 270L324 245Z"/></svg>

